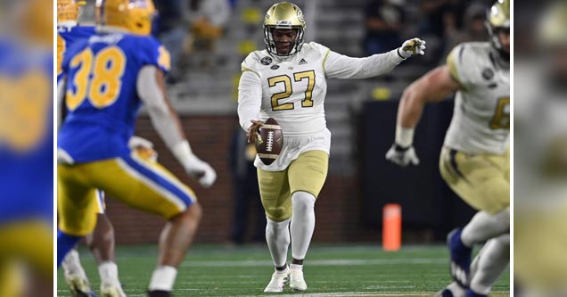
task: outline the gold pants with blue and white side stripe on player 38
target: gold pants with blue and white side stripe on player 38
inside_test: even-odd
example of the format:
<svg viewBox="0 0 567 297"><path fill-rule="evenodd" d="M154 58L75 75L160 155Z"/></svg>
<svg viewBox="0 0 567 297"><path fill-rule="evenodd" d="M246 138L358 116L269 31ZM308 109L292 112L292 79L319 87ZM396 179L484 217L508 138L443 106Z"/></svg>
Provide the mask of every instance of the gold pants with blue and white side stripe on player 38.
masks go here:
<svg viewBox="0 0 567 297"><path fill-rule="evenodd" d="M157 162L136 153L89 163L57 166L59 227L69 235L94 230L96 189L127 205L170 219L196 201L196 195Z"/></svg>

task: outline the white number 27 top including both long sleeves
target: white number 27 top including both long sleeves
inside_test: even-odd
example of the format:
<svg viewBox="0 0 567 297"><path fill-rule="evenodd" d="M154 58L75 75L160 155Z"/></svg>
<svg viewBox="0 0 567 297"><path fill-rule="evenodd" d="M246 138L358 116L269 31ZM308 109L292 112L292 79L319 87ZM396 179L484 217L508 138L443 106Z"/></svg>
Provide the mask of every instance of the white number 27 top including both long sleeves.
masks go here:
<svg viewBox="0 0 567 297"><path fill-rule="evenodd" d="M324 45L304 44L287 59L266 50L249 54L242 62L238 87L238 116L243 129L251 120L274 118L284 133L284 147L270 166L259 159L260 169L286 169L300 153L321 150L329 153L331 134L326 128L326 78L370 78L396 67L404 59L396 49L366 58L334 53Z"/></svg>

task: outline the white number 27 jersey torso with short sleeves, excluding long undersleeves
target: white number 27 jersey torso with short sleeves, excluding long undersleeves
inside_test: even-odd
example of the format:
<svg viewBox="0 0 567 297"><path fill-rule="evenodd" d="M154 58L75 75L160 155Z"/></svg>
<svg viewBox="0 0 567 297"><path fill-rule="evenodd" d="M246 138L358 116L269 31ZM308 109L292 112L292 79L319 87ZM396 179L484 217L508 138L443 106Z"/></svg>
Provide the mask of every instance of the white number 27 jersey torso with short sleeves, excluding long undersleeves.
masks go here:
<svg viewBox="0 0 567 297"><path fill-rule="evenodd" d="M242 71L252 71L261 81L259 120L274 118L284 136L313 136L326 129L325 57L329 49L316 43L303 45L300 53L280 61L266 50L251 53Z"/></svg>

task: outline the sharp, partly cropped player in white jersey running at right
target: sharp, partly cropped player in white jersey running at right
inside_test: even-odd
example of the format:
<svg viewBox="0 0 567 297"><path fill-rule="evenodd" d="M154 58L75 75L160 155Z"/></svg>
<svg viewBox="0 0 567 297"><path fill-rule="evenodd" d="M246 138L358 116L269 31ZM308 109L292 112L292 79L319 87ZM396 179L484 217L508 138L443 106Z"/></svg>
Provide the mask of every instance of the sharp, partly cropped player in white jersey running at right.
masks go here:
<svg viewBox="0 0 567 297"><path fill-rule="evenodd" d="M399 102L396 141L386 159L419 160L412 146L423 105L456 92L453 119L440 156L441 176L479 212L448 235L451 276L441 295L487 296L509 262L510 250L510 5L487 13L490 42L457 45L440 66L407 87ZM488 240L471 265L472 247Z"/></svg>

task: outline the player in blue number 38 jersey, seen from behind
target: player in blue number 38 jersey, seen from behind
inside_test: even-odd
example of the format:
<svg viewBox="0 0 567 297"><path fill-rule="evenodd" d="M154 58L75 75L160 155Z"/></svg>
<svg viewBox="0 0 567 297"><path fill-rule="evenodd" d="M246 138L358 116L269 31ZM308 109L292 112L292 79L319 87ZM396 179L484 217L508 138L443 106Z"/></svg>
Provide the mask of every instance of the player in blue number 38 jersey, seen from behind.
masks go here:
<svg viewBox="0 0 567 297"><path fill-rule="evenodd" d="M99 0L97 33L71 45L62 62L58 94L69 114L58 136L58 263L96 219L94 191L168 219L160 235L158 266L149 296L170 296L201 218L195 194L158 163L144 160L128 145L142 103L154 128L191 177L211 186L216 173L191 150L164 77L168 51L149 34L151 0ZM62 98L60 98L62 99ZM103 296L118 296L102 292Z"/></svg>

